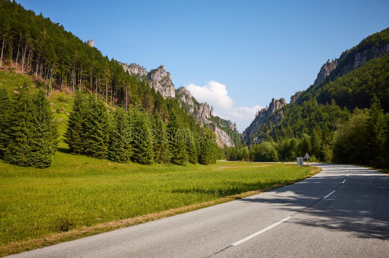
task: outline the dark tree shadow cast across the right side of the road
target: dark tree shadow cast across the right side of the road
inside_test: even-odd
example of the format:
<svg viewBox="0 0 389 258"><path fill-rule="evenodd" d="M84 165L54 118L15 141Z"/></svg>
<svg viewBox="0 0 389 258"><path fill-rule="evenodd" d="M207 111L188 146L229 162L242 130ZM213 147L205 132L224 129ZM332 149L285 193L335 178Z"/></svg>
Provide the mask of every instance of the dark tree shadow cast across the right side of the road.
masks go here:
<svg viewBox="0 0 389 258"><path fill-rule="evenodd" d="M272 198L261 198L259 195L239 201L272 203L276 204L275 209L298 212L289 223L347 231L359 238L388 240L389 176L350 166L347 167L347 177L346 169L331 170L331 175L325 176L326 170L338 166L320 166L324 173L299 184L273 190L275 194ZM344 179L347 182L340 184ZM336 189L336 193L322 199L329 189ZM300 210L296 206L300 206Z"/></svg>

